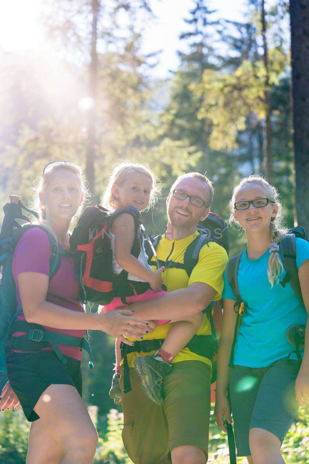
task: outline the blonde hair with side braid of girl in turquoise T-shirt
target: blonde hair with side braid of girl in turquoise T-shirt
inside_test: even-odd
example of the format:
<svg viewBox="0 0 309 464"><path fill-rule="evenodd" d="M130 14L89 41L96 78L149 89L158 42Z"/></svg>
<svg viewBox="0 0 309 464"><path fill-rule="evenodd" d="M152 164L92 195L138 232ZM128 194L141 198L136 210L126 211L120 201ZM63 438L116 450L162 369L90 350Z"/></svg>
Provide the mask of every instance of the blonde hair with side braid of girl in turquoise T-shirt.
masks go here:
<svg viewBox="0 0 309 464"><path fill-rule="evenodd" d="M267 180L259 175L249 175L244 179L240 180L240 183L234 188L232 199L230 201L230 217L229 223L233 226L233 223L236 223L233 217L234 203L237 193L240 191L241 187L247 184L255 184L264 188L267 198L273 200L278 207L278 213L276 218L271 218L269 225L269 230L271 232L271 241L279 244L280 238L287 233L287 229L284 227L284 216L283 216L283 206L279 199L279 193L277 192L276 187L270 185ZM282 274L284 267L280 261L279 253L277 251L272 251L268 258L268 268L267 268L267 277L271 284L271 288L279 282L279 276Z"/></svg>

